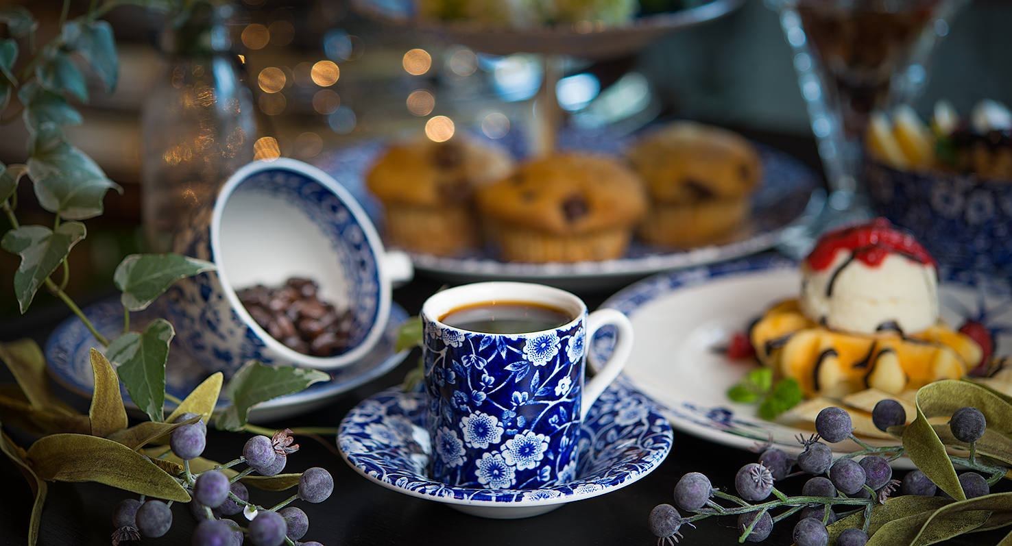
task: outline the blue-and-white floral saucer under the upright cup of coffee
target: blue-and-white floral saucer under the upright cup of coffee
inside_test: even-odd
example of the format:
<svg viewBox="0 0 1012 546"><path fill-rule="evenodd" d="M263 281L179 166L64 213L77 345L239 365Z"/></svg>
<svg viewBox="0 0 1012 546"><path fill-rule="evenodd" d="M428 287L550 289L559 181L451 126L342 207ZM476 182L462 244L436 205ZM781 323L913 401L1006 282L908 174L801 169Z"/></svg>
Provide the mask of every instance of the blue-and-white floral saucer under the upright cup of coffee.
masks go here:
<svg viewBox="0 0 1012 546"><path fill-rule="evenodd" d="M337 430L337 445L358 473L412 496L466 514L510 520L624 487L661 464L671 450L668 420L622 378L597 399L580 431L577 479L540 489L455 487L428 477L431 443L422 427L424 394L387 390L355 406Z"/></svg>

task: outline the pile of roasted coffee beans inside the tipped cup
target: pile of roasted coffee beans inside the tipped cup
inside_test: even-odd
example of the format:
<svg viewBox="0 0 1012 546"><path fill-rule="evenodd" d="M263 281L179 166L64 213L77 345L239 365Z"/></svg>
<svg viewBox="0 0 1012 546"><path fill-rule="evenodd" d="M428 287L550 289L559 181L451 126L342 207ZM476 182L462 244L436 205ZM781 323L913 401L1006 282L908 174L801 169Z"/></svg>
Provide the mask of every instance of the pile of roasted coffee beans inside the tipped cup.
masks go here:
<svg viewBox="0 0 1012 546"><path fill-rule="evenodd" d="M279 288L258 284L236 294L270 337L304 355L329 357L348 349L351 312L317 297L309 279L289 278Z"/></svg>

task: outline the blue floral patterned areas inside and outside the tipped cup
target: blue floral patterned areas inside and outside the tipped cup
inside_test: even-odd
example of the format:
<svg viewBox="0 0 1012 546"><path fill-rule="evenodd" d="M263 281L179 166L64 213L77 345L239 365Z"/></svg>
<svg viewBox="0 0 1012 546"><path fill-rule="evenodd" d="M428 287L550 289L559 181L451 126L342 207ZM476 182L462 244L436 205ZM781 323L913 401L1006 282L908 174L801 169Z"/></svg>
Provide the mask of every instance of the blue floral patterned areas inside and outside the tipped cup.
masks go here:
<svg viewBox="0 0 1012 546"><path fill-rule="evenodd" d="M313 220L327 237L342 268L353 316L350 346L361 343L380 318L380 272L376 256L361 225L347 205L311 177L287 169L257 172L236 192L256 192L283 199ZM210 251L210 213L202 210L184 230L175 251L214 261ZM168 291L174 304L169 321L177 343L210 371L232 376L248 360L287 364L271 350L232 308L217 273L201 273L176 282ZM265 334L266 335L266 334Z"/></svg>

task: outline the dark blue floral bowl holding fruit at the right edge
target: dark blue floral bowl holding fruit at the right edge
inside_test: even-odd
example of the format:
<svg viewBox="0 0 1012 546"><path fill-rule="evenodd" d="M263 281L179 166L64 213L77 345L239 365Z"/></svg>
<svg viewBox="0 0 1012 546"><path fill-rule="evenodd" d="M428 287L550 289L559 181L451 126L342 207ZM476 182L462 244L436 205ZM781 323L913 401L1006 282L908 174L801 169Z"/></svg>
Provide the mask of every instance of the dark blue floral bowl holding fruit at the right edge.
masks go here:
<svg viewBox="0 0 1012 546"><path fill-rule="evenodd" d="M870 161L865 174L875 212L913 232L940 265L1012 273L1012 181Z"/></svg>

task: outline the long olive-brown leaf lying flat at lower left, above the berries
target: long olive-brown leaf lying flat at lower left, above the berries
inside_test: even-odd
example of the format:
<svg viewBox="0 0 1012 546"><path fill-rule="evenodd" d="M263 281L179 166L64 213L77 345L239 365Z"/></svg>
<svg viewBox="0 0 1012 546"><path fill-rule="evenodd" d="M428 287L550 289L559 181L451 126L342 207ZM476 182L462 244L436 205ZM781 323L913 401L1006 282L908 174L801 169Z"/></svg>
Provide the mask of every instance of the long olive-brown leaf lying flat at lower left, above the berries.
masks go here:
<svg viewBox="0 0 1012 546"><path fill-rule="evenodd" d="M148 457L105 438L47 436L31 445L28 460L43 479L96 481L156 498L190 499L186 489Z"/></svg>

